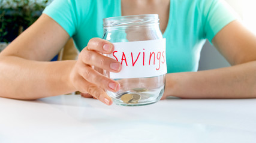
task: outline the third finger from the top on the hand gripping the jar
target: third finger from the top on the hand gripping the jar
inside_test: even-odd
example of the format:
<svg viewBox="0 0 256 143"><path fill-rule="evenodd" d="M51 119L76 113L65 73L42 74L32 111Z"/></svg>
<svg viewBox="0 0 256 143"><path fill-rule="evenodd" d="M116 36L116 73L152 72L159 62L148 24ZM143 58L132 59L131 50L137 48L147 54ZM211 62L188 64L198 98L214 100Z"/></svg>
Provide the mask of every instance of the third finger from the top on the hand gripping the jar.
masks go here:
<svg viewBox="0 0 256 143"><path fill-rule="evenodd" d="M107 89L109 91L117 92L120 89L120 85L115 80L109 79L103 74L98 73L89 66L83 65L79 66L79 74L88 82L94 83L101 88Z"/></svg>

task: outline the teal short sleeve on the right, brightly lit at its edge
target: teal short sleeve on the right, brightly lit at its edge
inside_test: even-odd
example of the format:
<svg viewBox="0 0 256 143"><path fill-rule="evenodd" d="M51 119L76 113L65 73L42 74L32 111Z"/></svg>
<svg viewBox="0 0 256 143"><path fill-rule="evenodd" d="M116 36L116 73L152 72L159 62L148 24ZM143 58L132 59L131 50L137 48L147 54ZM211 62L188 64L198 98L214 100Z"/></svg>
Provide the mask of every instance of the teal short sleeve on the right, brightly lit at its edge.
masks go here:
<svg viewBox="0 0 256 143"><path fill-rule="evenodd" d="M200 8L203 13L204 36L210 43L223 27L239 18L233 8L223 0L205 0L201 2Z"/></svg>

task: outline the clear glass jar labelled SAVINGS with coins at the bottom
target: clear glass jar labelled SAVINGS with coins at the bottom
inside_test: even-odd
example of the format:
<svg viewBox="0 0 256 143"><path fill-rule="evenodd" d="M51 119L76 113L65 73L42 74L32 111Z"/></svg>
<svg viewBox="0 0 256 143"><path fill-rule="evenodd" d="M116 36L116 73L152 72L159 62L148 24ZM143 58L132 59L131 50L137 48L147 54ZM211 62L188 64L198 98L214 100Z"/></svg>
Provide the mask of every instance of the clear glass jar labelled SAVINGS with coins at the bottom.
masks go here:
<svg viewBox="0 0 256 143"><path fill-rule="evenodd" d="M118 81L118 92L107 91L118 105L153 104L164 94L165 39L159 29L157 14L104 18L103 39L115 46L112 57L122 64L120 73L104 71Z"/></svg>

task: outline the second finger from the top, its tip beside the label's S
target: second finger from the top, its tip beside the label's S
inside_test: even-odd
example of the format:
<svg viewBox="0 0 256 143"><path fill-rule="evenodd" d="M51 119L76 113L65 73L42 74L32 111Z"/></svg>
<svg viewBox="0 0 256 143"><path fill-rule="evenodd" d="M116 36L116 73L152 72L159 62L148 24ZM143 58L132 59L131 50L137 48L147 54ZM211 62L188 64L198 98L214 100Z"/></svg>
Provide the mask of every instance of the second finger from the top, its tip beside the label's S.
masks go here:
<svg viewBox="0 0 256 143"><path fill-rule="evenodd" d="M82 60L85 64L100 67L101 69L115 73L122 69L121 63L114 60L113 58L106 57L95 51L82 51L79 55L79 60Z"/></svg>

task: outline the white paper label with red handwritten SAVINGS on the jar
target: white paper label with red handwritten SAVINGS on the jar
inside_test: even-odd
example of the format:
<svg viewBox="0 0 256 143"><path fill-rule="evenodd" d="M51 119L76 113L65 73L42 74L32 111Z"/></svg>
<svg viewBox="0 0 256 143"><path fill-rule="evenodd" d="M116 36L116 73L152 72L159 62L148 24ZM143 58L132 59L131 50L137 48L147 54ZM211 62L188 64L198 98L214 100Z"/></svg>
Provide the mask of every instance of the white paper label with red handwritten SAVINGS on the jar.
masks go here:
<svg viewBox="0 0 256 143"><path fill-rule="evenodd" d="M119 73L110 72L112 79L160 76L167 73L165 39L113 43L109 57L122 64Z"/></svg>

